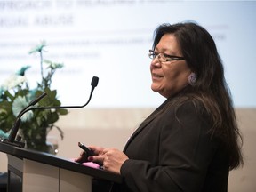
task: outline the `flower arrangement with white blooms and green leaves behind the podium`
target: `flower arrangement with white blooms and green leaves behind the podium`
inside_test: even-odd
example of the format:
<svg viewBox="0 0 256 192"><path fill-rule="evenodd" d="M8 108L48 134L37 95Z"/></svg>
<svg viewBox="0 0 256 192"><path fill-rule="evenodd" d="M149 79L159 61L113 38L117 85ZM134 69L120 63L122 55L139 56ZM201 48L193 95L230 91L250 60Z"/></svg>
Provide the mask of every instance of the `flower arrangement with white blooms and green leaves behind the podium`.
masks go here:
<svg viewBox="0 0 256 192"><path fill-rule="evenodd" d="M51 84L52 76L57 69L63 68L63 64L44 60L45 46L45 42L42 42L29 52L29 54L39 53L40 56L41 82L37 82L35 88L31 89L29 87L27 76L25 76L30 66L20 68L16 74L6 79L0 87L0 129L3 132L10 132L20 111L43 92L46 92L47 96L40 100L36 107L60 106L61 104L57 98L57 91L51 90ZM60 115L67 114L66 109L30 110L21 116L19 134L22 140L27 143L28 148L47 151L46 136L52 128L57 128L60 131L61 139L63 139L63 132L55 123ZM6 134L4 136L6 137Z"/></svg>

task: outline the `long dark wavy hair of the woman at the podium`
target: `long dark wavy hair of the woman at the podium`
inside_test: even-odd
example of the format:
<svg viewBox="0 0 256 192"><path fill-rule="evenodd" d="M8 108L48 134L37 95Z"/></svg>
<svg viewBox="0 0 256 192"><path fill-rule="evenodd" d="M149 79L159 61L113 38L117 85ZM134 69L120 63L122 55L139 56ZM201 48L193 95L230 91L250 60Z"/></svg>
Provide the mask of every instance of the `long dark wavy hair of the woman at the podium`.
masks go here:
<svg viewBox="0 0 256 192"><path fill-rule="evenodd" d="M188 86L188 100L203 103L212 116L212 135L228 147L229 169L243 164L243 139L236 123L236 114L224 68L212 36L193 22L163 24L156 28L153 50L164 34L173 34L188 67L196 74L196 84ZM183 98L183 101L184 98Z"/></svg>

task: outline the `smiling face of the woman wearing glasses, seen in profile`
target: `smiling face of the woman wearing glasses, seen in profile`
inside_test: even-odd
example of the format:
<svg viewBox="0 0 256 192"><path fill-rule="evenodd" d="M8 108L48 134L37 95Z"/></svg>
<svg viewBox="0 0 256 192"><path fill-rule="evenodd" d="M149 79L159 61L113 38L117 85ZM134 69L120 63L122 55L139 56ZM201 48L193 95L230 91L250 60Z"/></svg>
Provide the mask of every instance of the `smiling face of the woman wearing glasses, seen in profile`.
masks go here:
<svg viewBox="0 0 256 192"><path fill-rule="evenodd" d="M180 45L173 34L162 36L154 51L183 57L180 52ZM154 92L159 92L165 98L169 98L188 85L188 76L191 70L188 68L186 60L160 62L156 56L151 62L150 72L152 77L151 89Z"/></svg>

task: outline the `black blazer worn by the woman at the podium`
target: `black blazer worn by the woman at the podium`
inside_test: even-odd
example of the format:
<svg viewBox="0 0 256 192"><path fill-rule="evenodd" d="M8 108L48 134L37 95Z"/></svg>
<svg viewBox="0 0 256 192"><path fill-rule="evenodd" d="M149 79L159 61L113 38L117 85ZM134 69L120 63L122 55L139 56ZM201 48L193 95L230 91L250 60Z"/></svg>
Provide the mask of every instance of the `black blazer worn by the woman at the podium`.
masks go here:
<svg viewBox="0 0 256 192"><path fill-rule="evenodd" d="M179 109L166 100L132 134L124 147L123 185L112 191L226 192L228 153L209 133L203 106L187 101Z"/></svg>

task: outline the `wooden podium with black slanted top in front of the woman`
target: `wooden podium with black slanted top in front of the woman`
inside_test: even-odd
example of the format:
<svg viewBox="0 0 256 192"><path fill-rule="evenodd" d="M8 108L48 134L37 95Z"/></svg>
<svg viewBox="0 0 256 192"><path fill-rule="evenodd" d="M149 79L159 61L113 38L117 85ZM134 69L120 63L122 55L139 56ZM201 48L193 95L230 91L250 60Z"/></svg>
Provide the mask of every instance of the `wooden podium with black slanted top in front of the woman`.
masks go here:
<svg viewBox="0 0 256 192"><path fill-rule="evenodd" d="M8 156L8 192L89 192L92 179L122 182L120 175L68 159L0 142Z"/></svg>

